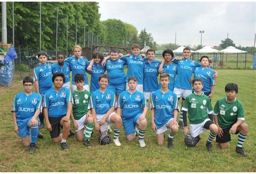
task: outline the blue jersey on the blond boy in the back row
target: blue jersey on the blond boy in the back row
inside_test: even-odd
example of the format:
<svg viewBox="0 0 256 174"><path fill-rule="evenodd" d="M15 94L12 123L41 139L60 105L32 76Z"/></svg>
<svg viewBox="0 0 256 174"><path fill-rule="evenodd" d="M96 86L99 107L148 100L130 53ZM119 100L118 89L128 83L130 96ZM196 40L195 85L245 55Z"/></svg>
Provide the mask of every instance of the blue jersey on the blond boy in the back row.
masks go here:
<svg viewBox="0 0 256 174"><path fill-rule="evenodd" d="M86 74L86 68L89 65L89 61L86 58L81 57L69 57L65 61L69 62L70 69L72 71L72 85L76 85L75 75L80 73L84 75L84 85L88 85L88 78Z"/></svg>

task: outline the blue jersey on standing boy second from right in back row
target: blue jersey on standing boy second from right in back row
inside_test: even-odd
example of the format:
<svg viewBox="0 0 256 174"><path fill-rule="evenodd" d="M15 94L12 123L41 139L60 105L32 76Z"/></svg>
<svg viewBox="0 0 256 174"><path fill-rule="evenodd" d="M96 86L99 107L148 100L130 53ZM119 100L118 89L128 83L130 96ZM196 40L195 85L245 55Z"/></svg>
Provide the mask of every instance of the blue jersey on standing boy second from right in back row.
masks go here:
<svg viewBox="0 0 256 174"><path fill-rule="evenodd" d="M194 72L194 68L200 67L198 61L183 59L183 60L173 60L175 64L177 64L177 77L174 83L174 87L191 90L190 79L192 73Z"/></svg>

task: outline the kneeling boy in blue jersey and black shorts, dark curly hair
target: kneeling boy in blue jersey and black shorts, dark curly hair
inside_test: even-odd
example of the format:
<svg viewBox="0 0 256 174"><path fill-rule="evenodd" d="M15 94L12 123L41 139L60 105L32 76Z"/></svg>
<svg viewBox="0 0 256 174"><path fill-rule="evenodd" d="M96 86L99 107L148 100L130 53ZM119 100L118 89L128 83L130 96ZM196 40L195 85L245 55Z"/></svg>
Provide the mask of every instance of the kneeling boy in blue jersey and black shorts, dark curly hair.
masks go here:
<svg viewBox="0 0 256 174"><path fill-rule="evenodd" d="M43 110L46 128L50 131L52 141L60 142L63 150L69 150L66 140L70 131L72 94L70 89L62 87L64 81L63 73L53 74L52 82L55 87L45 93ZM63 128L62 134L60 134L60 127Z"/></svg>

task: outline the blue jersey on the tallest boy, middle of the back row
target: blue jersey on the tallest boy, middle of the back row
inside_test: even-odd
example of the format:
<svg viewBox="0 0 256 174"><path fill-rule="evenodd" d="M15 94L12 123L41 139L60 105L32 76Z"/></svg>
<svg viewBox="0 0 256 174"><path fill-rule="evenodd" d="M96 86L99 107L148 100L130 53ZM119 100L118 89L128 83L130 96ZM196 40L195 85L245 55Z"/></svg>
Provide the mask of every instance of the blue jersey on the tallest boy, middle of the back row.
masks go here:
<svg viewBox="0 0 256 174"><path fill-rule="evenodd" d="M143 59L141 55L123 56L122 60L126 61L128 66L127 75L125 81L128 82L130 76L135 76L137 83L143 85L143 69L147 59Z"/></svg>

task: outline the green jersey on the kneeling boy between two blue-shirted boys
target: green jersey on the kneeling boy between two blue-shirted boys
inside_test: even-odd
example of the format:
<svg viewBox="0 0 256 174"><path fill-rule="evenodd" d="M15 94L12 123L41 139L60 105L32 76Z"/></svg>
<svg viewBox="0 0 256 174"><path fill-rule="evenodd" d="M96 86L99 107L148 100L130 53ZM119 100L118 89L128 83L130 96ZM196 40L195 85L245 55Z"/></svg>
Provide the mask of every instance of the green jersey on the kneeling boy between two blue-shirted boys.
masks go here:
<svg viewBox="0 0 256 174"><path fill-rule="evenodd" d="M89 91L78 92L77 90L73 91L73 115L75 120L82 118L90 109L89 101L91 93Z"/></svg>

